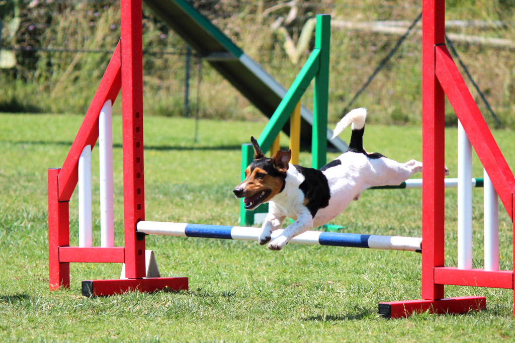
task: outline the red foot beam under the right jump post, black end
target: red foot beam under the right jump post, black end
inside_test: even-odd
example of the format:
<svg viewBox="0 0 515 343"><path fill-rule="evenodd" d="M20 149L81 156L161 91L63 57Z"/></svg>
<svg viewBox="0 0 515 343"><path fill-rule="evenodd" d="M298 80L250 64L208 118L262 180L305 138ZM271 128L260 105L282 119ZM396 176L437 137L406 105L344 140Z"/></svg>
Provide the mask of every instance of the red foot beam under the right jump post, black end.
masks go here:
<svg viewBox="0 0 515 343"><path fill-rule="evenodd" d="M485 297L457 297L440 300L406 300L379 303L379 314L384 318L406 318L429 311L436 314L461 314L486 310Z"/></svg>

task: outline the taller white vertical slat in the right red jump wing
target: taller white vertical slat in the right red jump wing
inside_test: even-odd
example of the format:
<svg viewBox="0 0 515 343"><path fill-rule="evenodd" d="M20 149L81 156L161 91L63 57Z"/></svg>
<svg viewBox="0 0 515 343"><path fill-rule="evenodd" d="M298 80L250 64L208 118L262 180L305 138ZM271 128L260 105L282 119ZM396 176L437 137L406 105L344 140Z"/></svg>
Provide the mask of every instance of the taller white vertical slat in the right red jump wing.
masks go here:
<svg viewBox="0 0 515 343"><path fill-rule="evenodd" d="M472 269L472 145L458 121L458 269Z"/></svg>

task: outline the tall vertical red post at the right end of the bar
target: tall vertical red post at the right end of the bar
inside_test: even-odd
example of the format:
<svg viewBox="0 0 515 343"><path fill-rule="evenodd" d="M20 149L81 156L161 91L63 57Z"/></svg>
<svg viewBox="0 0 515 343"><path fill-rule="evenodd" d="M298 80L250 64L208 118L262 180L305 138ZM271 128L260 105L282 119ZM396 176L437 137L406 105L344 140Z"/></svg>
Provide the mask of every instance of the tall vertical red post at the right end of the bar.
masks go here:
<svg viewBox="0 0 515 343"><path fill-rule="evenodd" d="M428 10L430 9L431 10ZM442 299L433 267L443 266L444 94L435 78L435 46L445 43L445 2L424 1L422 9L422 298Z"/></svg>

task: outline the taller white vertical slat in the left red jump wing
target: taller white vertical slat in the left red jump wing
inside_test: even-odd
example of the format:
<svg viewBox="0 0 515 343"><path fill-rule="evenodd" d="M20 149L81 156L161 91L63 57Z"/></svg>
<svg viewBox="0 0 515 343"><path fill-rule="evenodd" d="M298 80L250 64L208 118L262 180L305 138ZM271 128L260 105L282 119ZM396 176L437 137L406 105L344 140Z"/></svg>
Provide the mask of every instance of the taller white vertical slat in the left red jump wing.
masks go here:
<svg viewBox="0 0 515 343"><path fill-rule="evenodd" d="M100 164L100 246L114 247L112 104L107 100L98 119Z"/></svg>

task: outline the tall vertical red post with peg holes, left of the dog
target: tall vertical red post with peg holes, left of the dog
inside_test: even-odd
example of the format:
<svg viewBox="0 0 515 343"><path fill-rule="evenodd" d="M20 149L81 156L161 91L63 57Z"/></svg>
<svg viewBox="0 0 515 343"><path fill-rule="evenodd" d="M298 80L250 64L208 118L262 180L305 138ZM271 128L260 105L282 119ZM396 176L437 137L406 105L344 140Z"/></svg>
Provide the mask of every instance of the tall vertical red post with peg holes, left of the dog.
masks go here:
<svg viewBox="0 0 515 343"><path fill-rule="evenodd" d="M145 276L145 239L136 223L145 219L143 169L143 52L141 0L122 0L122 123L124 152L125 273Z"/></svg>

